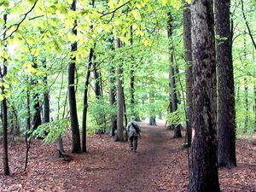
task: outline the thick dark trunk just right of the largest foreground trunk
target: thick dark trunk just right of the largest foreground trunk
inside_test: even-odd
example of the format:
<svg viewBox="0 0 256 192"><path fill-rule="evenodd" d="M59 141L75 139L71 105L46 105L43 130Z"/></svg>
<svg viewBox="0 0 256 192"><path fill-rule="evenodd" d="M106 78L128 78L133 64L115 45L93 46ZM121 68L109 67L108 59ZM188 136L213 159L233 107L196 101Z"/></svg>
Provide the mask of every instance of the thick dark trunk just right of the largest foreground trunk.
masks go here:
<svg viewBox="0 0 256 192"><path fill-rule="evenodd" d="M230 0L215 1L218 66L218 166L236 166L236 109ZM223 40L222 38L228 38Z"/></svg>

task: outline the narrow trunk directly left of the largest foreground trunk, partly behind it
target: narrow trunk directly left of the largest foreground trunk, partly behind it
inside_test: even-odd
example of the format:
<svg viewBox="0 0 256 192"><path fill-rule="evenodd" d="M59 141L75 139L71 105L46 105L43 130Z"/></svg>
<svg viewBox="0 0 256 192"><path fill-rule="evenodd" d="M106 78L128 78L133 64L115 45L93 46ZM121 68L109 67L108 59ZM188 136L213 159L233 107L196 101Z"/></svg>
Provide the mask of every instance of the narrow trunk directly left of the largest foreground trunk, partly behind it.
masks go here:
<svg viewBox="0 0 256 192"><path fill-rule="evenodd" d="M184 56L185 62L187 63L186 68L186 98L187 98L187 109L186 109L186 137L185 145L187 147L191 146L191 136L192 136L192 49L191 49L191 11L190 4L184 2L183 9L183 41L184 41Z"/></svg>

